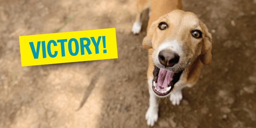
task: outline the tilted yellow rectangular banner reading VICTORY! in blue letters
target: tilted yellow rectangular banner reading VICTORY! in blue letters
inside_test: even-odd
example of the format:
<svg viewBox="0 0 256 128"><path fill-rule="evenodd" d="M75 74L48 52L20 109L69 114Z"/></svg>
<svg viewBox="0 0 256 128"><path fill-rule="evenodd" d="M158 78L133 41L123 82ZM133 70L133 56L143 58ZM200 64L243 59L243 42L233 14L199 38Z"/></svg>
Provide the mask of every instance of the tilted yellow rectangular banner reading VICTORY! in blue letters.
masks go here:
<svg viewBox="0 0 256 128"><path fill-rule="evenodd" d="M118 58L115 28L20 36L20 55L21 66Z"/></svg>

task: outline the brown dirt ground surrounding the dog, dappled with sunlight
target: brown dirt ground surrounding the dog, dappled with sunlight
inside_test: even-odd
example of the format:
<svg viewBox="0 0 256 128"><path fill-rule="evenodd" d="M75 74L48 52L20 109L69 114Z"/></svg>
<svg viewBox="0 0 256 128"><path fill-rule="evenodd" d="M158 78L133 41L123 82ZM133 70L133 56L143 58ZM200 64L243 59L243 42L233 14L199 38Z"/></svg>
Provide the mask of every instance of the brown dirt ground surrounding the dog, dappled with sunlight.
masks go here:
<svg viewBox="0 0 256 128"><path fill-rule="evenodd" d="M256 127L256 0L183 0L207 25L213 59L154 128ZM136 0L0 0L0 128L148 128ZM116 28L118 59L21 67L19 36ZM79 107L81 108L77 110Z"/></svg>

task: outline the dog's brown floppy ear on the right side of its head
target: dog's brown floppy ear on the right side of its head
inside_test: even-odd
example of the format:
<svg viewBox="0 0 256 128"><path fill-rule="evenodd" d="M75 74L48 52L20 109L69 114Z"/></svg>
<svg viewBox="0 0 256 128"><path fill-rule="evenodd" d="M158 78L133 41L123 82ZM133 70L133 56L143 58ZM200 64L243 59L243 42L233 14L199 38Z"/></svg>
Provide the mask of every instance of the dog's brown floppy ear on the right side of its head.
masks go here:
<svg viewBox="0 0 256 128"><path fill-rule="evenodd" d="M208 32L207 27L203 24L205 29L205 38L200 54L200 60L203 64L208 65L212 61L212 35Z"/></svg>

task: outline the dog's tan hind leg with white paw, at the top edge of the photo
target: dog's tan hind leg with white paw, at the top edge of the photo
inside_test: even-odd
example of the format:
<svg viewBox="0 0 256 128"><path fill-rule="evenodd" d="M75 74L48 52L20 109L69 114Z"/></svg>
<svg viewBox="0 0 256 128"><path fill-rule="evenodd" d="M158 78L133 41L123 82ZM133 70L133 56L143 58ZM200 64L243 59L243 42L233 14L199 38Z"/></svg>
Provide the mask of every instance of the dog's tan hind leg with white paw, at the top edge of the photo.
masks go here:
<svg viewBox="0 0 256 128"><path fill-rule="evenodd" d="M141 22L141 13L150 7L150 0L138 0L137 1L137 14L135 22L133 23L133 28L131 31L133 34L138 34L141 30L142 22Z"/></svg>

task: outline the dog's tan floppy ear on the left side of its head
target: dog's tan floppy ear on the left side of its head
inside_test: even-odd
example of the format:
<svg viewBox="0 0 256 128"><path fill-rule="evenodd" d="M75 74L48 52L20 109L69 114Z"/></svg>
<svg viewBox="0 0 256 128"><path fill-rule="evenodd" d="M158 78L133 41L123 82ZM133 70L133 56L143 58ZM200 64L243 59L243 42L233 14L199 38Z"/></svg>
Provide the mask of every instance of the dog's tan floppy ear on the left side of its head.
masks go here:
<svg viewBox="0 0 256 128"><path fill-rule="evenodd" d="M153 34L154 34L155 30L156 30L156 21L152 22L150 28L148 29L146 37L144 37L144 39L142 41L143 48L145 48L147 50L152 48L151 40L153 38Z"/></svg>

